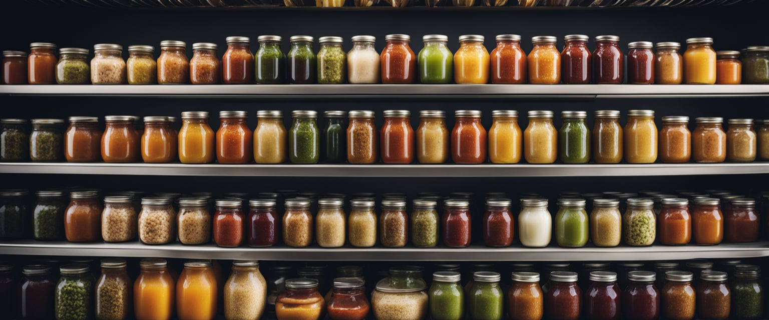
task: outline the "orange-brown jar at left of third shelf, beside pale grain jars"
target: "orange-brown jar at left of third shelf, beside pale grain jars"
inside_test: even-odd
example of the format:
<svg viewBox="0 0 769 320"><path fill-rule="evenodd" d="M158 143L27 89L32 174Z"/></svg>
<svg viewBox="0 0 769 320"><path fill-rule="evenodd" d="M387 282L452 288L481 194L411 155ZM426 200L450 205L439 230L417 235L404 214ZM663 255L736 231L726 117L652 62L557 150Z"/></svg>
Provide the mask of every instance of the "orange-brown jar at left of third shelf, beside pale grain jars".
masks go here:
<svg viewBox="0 0 769 320"><path fill-rule="evenodd" d="M69 242L93 242L102 239L102 204L98 191L72 191L64 213L64 233Z"/></svg>

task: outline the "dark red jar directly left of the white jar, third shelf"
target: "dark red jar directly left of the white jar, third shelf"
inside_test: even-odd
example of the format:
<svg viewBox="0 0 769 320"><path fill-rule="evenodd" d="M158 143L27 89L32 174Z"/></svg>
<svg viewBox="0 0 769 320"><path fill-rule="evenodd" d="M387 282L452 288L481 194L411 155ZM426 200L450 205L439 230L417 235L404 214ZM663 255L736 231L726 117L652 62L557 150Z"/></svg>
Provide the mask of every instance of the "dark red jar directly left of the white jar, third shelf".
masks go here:
<svg viewBox="0 0 769 320"><path fill-rule="evenodd" d="M486 246L510 246L513 243L513 215L510 213L511 200L486 200L483 215L483 240Z"/></svg>

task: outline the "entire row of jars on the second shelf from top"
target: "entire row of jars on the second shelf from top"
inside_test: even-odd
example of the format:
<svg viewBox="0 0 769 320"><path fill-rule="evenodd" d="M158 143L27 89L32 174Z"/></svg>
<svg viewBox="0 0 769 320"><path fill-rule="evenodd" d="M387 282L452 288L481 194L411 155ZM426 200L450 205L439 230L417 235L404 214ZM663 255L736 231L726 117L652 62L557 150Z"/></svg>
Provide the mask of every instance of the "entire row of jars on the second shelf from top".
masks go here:
<svg viewBox="0 0 769 320"><path fill-rule="evenodd" d="M286 130L281 111L258 111L255 130L248 127L246 111L220 111L215 132L208 112L181 114L181 130L173 117L145 117L144 132L138 117L106 116L106 129L98 117L64 120L2 119L2 161L61 161L130 163L721 163L769 160L769 120L730 119L728 131L721 117L697 117L690 131L689 117L662 117L657 130L654 111L628 111L628 123L619 123L620 111L595 111L588 128L586 111L563 111L560 130L552 111L528 111L528 127L518 127L518 111L492 113L488 131L481 111L454 112L448 130L444 111L420 111L419 125L411 127L411 112L384 111L377 129L374 111L293 111ZM345 117L349 124L345 130ZM754 126L755 124L755 126Z"/></svg>

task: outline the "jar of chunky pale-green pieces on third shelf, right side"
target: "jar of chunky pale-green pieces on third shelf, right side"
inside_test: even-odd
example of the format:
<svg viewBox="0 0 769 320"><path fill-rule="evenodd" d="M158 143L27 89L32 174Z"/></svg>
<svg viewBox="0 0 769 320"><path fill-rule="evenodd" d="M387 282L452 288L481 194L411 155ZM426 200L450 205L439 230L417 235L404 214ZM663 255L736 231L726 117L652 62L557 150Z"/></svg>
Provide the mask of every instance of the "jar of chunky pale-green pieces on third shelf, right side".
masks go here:
<svg viewBox="0 0 769 320"><path fill-rule="evenodd" d="M657 215L654 200L628 199L628 209L622 216L624 240L628 246L651 246L657 237Z"/></svg>

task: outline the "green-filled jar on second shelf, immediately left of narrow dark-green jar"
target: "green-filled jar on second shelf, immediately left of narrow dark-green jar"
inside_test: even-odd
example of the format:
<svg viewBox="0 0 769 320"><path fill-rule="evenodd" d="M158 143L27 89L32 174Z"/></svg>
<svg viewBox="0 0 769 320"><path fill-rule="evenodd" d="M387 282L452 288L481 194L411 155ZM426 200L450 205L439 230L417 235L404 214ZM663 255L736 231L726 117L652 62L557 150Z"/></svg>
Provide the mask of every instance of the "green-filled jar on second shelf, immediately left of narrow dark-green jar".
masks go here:
<svg viewBox="0 0 769 320"><path fill-rule="evenodd" d="M320 157L320 137L318 132L318 112L298 110L291 112L294 123L288 133L288 159L291 163L318 163Z"/></svg>

